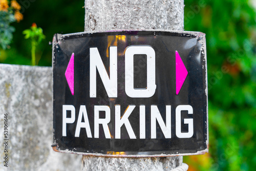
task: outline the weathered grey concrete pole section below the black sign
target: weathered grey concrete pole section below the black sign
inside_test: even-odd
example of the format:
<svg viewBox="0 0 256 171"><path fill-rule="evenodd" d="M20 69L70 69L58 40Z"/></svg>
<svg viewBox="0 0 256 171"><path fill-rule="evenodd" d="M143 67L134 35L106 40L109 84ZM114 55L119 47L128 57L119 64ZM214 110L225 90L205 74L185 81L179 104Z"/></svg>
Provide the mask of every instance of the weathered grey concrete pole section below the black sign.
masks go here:
<svg viewBox="0 0 256 171"><path fill-rule="evenodd" d="M82 171L86 170L173 170L185 171L187 164L182 163L179 157L156 157L156 158L111 158L83 156Z"/></svg>

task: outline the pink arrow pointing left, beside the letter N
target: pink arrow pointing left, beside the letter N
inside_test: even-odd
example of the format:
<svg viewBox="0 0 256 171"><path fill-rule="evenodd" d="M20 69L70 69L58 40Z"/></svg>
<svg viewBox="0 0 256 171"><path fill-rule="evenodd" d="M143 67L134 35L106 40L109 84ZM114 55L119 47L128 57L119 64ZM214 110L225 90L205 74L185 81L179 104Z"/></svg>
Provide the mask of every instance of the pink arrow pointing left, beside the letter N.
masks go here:
<svg viewBox="0 0 256 171"><path fill-rule="evenodd" d="M65 76L68 81L70 91L72 95L74 95L74 53L72 53L71 58L69 60L69 65L65 72Z"/></svg>

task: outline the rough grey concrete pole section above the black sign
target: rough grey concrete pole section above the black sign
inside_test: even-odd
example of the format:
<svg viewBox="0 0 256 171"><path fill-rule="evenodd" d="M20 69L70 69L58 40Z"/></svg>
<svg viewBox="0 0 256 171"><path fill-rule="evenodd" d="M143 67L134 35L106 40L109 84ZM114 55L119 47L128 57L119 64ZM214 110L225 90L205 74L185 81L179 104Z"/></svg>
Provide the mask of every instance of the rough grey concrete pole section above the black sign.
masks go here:
<svg viewBox="0 0 256 171"><path fill-rule="evenodd" d="M183 30L184 0L86 0L85 31Z"/></svg>

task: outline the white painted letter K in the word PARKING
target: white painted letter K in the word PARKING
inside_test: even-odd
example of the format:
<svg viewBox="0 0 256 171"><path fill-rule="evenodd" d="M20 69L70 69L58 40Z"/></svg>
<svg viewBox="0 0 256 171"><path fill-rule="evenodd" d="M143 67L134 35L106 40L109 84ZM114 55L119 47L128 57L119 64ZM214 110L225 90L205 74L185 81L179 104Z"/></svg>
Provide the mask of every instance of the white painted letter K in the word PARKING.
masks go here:
<svg viewBox="0 0 256 171"><path fill-rule="evenodd" d="M136 139L136 136L133 132L131 123L129 122L128 117L131 115L135 108L135 105L129 105L125 110L122 118L120 116L120 105L115 105L115 138L121 138L121 126L124 124L131 139Z"/></svg>

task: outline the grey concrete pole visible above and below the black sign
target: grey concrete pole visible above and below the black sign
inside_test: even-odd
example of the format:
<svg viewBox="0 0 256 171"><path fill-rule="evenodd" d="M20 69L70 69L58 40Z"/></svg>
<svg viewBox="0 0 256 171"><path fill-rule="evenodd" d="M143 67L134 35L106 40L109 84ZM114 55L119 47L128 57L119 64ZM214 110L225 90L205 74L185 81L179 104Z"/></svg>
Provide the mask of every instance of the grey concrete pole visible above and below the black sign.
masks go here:
<svg viewBox="0 0 256 171"><path fill-rule="evenodd" d="M84 31L183 30L184 0L85 0ZM187 170L179 157L82 157L82 170Z"/></svg>

